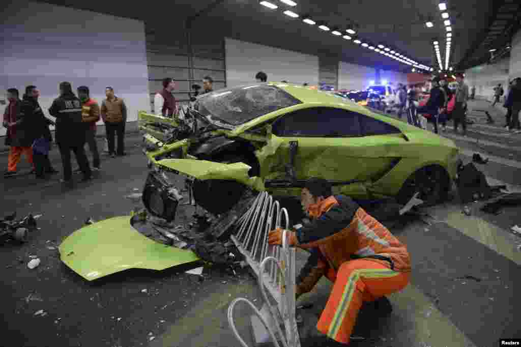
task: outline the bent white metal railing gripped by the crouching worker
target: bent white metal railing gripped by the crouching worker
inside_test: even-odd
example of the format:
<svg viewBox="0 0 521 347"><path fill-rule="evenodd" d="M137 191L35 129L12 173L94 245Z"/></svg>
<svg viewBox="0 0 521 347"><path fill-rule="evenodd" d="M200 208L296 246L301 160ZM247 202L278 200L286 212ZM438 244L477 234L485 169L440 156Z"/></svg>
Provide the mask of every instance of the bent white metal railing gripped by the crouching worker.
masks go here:
<svg viewBox="0 0 521 347"><path fill-rule="evenodd" d="M268 245L268 232L282 226L284 231L282 246ZM267 192L257 195L253 205L239 219L240 225L231 240L244 255L246 263L257 276L264 299L259 311L254 304L244 298L233 300L228 307L228 323L242 347L248 347L240 337L233 322L233 309L239 302L245 302L266 327L272 342L280 347L300 347L299 332L295 319L295 248L289 247L289 216L286 208L280 208L278 201ZM268 298L268 292L272 298ZM275 301L276 304L270 302ZM284 333L281 326L284 326Z"/></svg>

